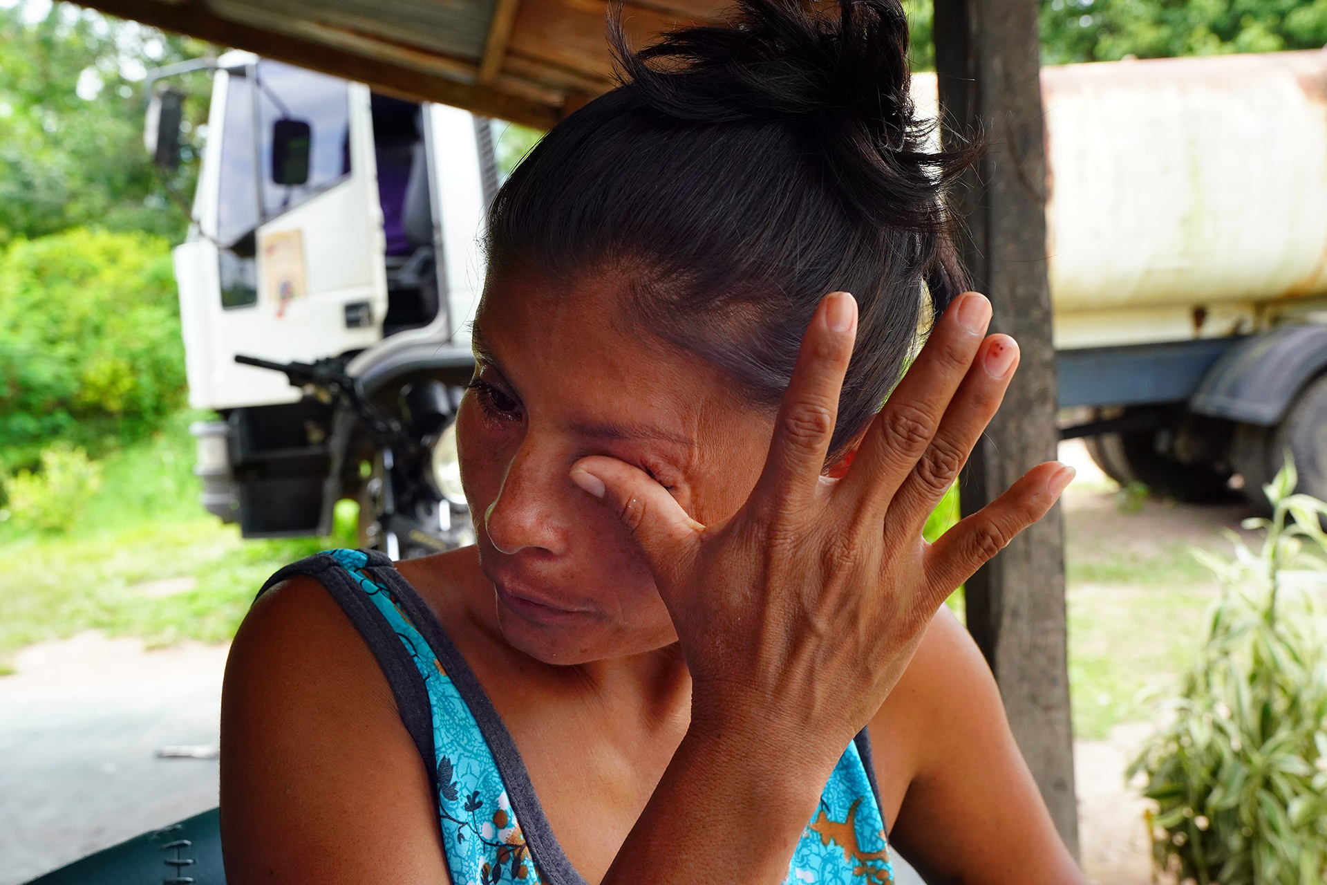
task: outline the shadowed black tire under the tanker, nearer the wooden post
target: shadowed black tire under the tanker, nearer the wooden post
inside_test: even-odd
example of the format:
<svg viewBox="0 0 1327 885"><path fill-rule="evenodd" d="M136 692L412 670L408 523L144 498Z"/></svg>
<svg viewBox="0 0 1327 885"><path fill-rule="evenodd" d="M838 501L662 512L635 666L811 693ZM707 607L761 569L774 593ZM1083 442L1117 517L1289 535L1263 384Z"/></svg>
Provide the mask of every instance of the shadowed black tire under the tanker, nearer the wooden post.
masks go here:
<svg viewBox="0 0 1327 885"><path fill-rule="evenodd" d="M1152 492L1186 504L1210 504L1234 498L1230 474L1204 463L1184 463L1165 454L1161 435L1143 430L1127 434L1088 437L1088 455L1107 476L1128 486L1143 483Z"/></svg>

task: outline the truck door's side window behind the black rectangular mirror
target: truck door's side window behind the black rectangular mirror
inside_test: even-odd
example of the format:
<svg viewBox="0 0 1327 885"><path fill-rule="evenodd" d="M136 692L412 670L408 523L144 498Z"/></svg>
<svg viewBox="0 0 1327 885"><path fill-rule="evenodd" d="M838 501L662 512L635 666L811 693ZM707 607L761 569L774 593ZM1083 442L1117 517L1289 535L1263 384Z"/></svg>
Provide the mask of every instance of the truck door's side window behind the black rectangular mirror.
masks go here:
<svg viewBox="0 0 1327 885"><path fill-rule="evenodd" d="M267 220L350 172L350 101L344 80L267 58L257 62L257 96L259 170ZM272 133L277 121L299 121L309 127L308 179L303 184L272 180Z"/></svg>

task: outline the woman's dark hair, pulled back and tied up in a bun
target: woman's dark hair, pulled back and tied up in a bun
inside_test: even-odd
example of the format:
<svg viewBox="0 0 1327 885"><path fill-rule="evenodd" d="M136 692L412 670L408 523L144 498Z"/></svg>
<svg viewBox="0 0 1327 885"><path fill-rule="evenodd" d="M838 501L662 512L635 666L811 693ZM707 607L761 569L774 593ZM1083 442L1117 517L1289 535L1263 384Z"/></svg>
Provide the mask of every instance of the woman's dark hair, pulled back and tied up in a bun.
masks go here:
<svg viewBox="0 0 1327 885"><path fill-rule="evenodd" d="M945 187L965 154L928 153L897 0L738 0L723 24L632 53L622 84L529 153L488 216L495 271L616 269L646 328L776 406L829 292L860 305L831 462L880 409L924 314L961 292Z"/></svg>

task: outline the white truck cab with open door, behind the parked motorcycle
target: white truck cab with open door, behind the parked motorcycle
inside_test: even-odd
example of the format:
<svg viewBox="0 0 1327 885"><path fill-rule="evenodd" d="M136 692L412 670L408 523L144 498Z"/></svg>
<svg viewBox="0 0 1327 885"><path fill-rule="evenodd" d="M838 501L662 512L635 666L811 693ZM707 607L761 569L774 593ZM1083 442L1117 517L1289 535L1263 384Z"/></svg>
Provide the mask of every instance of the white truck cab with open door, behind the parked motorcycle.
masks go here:
<svg viewBox="0 0 1327 885"><path fill-rule="evenodd" d="M353 375L391 364L399 381L427 353L464 374L498 187L491 123L230 52L207 126L174 252L190 405L223 418L194 429L203 502L245 537L325 533L372 452L338 450L328 403L235 357L341 358Z"/></svg>

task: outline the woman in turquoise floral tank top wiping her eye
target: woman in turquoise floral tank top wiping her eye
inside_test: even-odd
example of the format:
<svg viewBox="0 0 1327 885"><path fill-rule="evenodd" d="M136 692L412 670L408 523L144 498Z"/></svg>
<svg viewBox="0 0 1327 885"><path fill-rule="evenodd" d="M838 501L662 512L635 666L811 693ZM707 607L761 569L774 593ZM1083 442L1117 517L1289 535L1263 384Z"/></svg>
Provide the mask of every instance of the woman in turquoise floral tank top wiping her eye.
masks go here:
<svg viewBox="0 0 1327 885"><path fill-rule="evenodd" d="M491 212L476 545L313 557L236 637L230 881L880 884L888 829L930 881L1080 882L942 605L1072 471L921 537L1018 349L897 0L616 41Z"/></svg>

